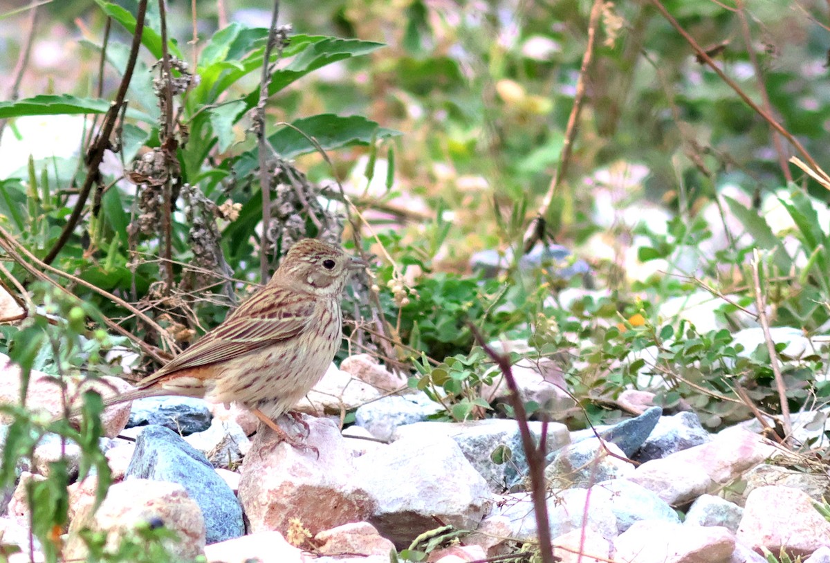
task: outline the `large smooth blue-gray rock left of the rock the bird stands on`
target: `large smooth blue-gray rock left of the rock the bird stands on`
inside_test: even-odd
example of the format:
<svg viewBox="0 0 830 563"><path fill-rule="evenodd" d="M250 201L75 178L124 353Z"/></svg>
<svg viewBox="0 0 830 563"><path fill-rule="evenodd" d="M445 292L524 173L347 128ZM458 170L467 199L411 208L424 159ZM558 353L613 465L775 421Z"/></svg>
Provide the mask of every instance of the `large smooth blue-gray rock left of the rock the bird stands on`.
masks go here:
<svg viewBox="0 0 830 563"><path fill-rule="evenodd" d="M204 454L164 426L144 428L135 441L125 478L175 482L202 509L207 543L242 536L242 507L231 487L217 475Z"/></svg>

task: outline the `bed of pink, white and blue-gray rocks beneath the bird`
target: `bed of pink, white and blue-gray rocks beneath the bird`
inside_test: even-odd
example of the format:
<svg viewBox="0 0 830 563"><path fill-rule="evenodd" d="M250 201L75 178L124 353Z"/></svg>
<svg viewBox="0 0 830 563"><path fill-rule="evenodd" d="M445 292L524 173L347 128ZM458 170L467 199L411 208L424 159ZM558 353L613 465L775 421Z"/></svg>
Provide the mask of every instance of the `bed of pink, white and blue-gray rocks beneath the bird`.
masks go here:
<svg viewBox="0 0 830 563"><path fill-rule="evenodd" d="M84 526L107 532L116 545L140 521L176 531L174 550L183 559L204 554L227 563L386 563L393 546L408 548L442 526L452 529L432 542L426 561L481 561L535 541L515 421L427 422L438 405L418 393L388 395L403 381L368 356L341 368L332 366L300 405L317 414L304 415L305 443L319 457L277 443L270 430L255 433L256 420L242 409L178 398L110 409L110 438L102 445L116 483L94 513L95 477L72 485L64 555L85 557L77 536ZM567 400L532 365L516 374L525 394ZM4 380L16 375L7 367ZM37 374L33 381L29 404L54 406L56 387L40 384ZM2 394L12 400L15 393ZM813 506L828 489L825 474L805 472L802 460L759 434L757 422L711 434L695 414L663 416L647 407L649 398L633 391L621 398L642 414L597 433L549 424L547 507L556 556L574 563L761 563L765 548L830 561L830 522ZM356 423L341 431L340 415L358 405ZM826 439L820 413L797 414L794 426L797 440ZM540 439L542 424L530 428ZM512 458L497 464L491 454L500 446ZM43 443L7 495L2 541L22 547L20 561L29 558L26 484L43 478L60 452L57 440ZM75 450L66 454L78 463Z"/></svg>

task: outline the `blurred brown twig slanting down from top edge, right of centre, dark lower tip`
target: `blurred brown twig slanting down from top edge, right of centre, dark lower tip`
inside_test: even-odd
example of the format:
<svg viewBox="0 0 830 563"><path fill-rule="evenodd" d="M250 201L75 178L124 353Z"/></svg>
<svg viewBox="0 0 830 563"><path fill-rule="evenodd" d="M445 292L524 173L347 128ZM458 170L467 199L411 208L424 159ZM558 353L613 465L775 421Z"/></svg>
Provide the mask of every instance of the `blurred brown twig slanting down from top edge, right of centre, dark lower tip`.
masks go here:
<svg viewBox="0 0 830 563"><path fill-rule="evenodd" d="M550 204L553 203L554 195L556 194L559 184L568 172L568 165L570 164L571 152L574 150L574 139L579 124L579 114L582 112L582 103L585 98L585 80L588 76L588 68L591 66L593 59L593 43L597 36L597 27L599 25L599 17L603 13L603 0L593 0L593 7L591 7L591 15L588 18L588 45L585 46L585 52L582 56L582 66L579 67L579 78L576 81L576 94L574 95L574 105L571 107L570 115L568 116L568 125L565 127L565 137L562 142L562 153L559 155L559 164L556 167L553 178L550 179L548 193L544 194L542 200L542 207L539 209L539 214L536 221L544 220L548 214ZM525 241L525 253L530 252L535 243L539 240L537 237L538 231L532 229L532 234Z"/></svg>

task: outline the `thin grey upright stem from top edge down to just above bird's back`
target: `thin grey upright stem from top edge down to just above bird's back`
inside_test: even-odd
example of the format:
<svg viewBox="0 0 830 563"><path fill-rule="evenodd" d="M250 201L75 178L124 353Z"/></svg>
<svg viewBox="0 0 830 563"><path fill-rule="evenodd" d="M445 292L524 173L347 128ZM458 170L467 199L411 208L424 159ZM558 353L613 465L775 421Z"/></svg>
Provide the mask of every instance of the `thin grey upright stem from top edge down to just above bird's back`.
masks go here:
<svg viewBox="0 0 830 563"><path fill-rule="evenodd" d="M268 229L271 227L271 171L268 169L268 150L265 136L265 105L268 100L268 85L271 84L271 50L276 43L276 21L280 16L280 0L274 0L271 12L271 27L268 28L268 42L262 60L260 97L254 110L256 123L256 144L259 147L260 189L262 190L262 238L260 243L260 278L268 279Z"/></svg>

